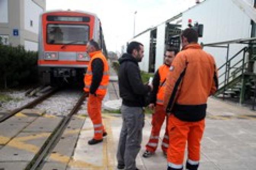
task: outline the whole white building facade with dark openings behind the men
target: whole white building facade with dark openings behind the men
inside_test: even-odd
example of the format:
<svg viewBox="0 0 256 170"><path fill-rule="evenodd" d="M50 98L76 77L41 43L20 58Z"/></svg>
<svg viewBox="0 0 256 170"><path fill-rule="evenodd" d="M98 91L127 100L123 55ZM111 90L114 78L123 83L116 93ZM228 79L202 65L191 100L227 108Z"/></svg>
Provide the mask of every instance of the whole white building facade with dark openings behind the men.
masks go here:
<svg viewBox="0 0 256 170"><path fill-rule="evenodd" d="M237 2L245 6L241 6ZM141 40L141 42L144 43L146 52L141 63L141 69L147 72L154 72L152 70L156 71L157 68L163 64L165 49L172 43L172 40L175 40L175 34L173 34L173 36L172 33L175 30L186 29L188 27L189 19L192 20L193 25L195 22L203 24L203 37L199 38L198 43L207 44L239 38L256 37L255 21L250 17L250 14L246 13L247 5L251 7L248 10L252 12L251 16L256 16L256 10L253 9L256 7L255 2L256 0L201 0L201 3L195 4L195 6L183 11L177 16L173 16L156 27L139 33L132 40ZM155 44L150 43L150 40L152 39L152 36L150 37L150 32L154 30L156 30L156 37L154 37L156 38ZM173 39L171 40L171 38ZM176 38L176 40L178 40L178 38ZM155 46L153 53L150 52L152 44ZM244 46L245 45L243 44L230 44L229 57L234 56L234 54ZM205 47L204 50L215 57L218 67L226 62L226 49ZM153 60L151 58L153 58ZM242 54L240 54L233 62L236 62L241 58ZM152 65L154 65L154 67ZM154 69L150 70L150 68ZM221 74L223 70L219 71Z"/></svg>

